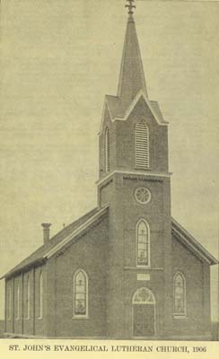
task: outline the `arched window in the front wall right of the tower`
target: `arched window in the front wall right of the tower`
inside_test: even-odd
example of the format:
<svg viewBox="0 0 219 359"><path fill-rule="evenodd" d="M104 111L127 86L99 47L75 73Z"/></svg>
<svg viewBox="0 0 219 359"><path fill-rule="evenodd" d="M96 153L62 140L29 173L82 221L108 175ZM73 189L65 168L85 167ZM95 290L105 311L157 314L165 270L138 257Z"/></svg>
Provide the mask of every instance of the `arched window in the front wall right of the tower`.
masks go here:
<svg viewBox="0 0 219 359"><path fill-rule="evenodd" d="M186 311L186 279L182 273L178 272L173 279L174 291L174 317L185 317Z"/></svg>

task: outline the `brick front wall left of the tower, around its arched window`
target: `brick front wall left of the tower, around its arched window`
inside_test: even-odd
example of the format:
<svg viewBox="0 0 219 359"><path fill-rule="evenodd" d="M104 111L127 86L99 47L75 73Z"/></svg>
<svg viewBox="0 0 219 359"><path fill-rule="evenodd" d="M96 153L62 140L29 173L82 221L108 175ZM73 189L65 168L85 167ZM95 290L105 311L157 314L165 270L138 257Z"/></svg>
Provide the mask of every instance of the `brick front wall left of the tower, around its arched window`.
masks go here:
<svg viewBox="0 0 219 359"><path fill-rule="evenodd" d="M96 225L57 258L51 258L48 269L48 306L52 318L48 335L56 337L106 336L106 255L108 246L107 218ZM83 269L88 277L88 318L74 318L74 273ZM52 279L52 273L55 277ZM55 282L53 281L55 279ZM51 291L54 292L52 293ZM55 302L53 299L55 298ZM49 306L50 307L50 306ZM54 315L55 314L55 315Z"/></svg>

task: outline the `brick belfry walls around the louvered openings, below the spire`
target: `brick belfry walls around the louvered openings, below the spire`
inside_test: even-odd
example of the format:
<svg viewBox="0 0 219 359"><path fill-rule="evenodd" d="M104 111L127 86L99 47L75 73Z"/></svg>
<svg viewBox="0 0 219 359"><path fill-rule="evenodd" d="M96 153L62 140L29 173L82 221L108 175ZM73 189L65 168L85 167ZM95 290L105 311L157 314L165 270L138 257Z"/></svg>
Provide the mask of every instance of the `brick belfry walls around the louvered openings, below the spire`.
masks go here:
<svg viewBox="0 0 219 359"><path fill-rule="evenodd" d="M145 100L140 99L127 120L111 122L105 110L103 128L99 137L100 178L105 175L105 129L109 128L110 169L136 170L135 128L140 119L149 128L150 171L168 171L168 128L160 126L153 118Z"/></svg>

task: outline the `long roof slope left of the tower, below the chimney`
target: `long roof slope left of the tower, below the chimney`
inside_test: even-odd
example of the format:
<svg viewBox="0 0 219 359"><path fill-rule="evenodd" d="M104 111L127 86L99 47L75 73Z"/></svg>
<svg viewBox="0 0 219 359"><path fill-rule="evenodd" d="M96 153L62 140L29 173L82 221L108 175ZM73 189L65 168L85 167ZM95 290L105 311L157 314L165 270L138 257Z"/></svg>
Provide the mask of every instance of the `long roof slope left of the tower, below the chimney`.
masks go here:
<svg viewBox="0 0 219 359"><path fill-rule="evenodd" d="M13 269L2 276L2 278L12 276L15 273L27 270L29 267L37 266L46 262L46 260L54 253L56 253L60 247L66 245L66 240L67 242L73 240L75 236L99 220L101 216L106 213L107 209L108 206L104 206L103 208L94 208L86 215L83 215L78 220L70 223L62 231L57 232L54 237L39 247L38 250L35 250L33 253L31 253L29 257L23 259L22 262L19 263L16 267L13 267ZM51 255L51 253L53 254Z"/></svg>

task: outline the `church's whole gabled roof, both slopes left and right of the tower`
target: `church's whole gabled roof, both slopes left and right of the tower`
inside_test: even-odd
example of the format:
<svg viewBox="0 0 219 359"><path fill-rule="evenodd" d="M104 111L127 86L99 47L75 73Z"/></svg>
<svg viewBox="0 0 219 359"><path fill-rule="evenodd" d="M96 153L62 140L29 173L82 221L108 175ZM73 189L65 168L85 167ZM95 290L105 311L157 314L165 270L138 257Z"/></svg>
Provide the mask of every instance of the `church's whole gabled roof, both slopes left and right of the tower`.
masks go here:
<svg viewBox="0 0 219 359"><path fill-rule="evenodd" d="M46 260L57 253L58 250L65 247L70 241L76 236L81 234L84 230L87 230L93 223L101 218L102 215L106 215L109 206L102 208L96 207L92 209L86 215L83 215L77 221L67 225L62 231L52 237L49 241L39 247L38 250L31 253L31 255L16 267L13 267L7 272L2 278L12 276L15 273L19 273L27 270L28 268L39 265L40 263L46 262ZM204 259L209 265L215 265L218 263L215 259L180 223L172 218L172 232L176 234L177 240L182 242L184 246L191 252L197 255L198 258Z"/></svg>

